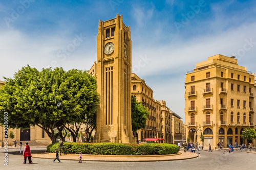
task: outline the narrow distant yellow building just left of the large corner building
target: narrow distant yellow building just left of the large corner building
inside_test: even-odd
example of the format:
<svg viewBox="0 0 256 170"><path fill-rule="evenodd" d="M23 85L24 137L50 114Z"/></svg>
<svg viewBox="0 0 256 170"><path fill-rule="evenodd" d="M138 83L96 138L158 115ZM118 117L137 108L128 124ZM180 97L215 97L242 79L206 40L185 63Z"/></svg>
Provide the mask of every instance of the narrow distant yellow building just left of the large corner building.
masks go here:
<svg viewBox="0 0 256 170"><path fill-rule="evenodd" d="M175 112L172 112L172 136L173 136L173 144L178 144L178 142L182 142L182 120L181 117L176 114Z"/></svg>

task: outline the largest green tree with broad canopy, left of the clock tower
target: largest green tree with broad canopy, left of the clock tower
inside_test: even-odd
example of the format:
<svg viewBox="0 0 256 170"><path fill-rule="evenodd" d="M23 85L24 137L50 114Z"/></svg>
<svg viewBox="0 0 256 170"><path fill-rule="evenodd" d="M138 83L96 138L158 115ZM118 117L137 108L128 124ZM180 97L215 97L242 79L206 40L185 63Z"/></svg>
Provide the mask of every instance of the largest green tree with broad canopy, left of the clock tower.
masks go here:
<svg viewBox="0 0 256 170"><path fill-rule="evenodd" d="M96 80L87 71L58 67L38 71L27 65L13 79L5 79L0 89L0 114L9 113L8 126L39 126L52 143L66 124L83 122L87 114L95 113L99 103Z"/></svg>

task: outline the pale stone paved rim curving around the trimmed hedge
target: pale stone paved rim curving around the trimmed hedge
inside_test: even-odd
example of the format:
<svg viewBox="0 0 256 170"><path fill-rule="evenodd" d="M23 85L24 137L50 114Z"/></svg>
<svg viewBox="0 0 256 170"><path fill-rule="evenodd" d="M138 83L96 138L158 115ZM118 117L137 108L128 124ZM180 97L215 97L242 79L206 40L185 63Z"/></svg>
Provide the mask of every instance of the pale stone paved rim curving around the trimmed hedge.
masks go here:
<svg viewBox="0 0 256 170"><path fill-rule="evenodd" d="M82 161L107 161L107 162L154 162L154 161L170 161L170 160L184 160L198 157L199 154L179 152L173 155L142 155L142 156L119 156L119 155L82 155ZM55 153L40 153L32 154L33 158L54 159ZM61 160L76 160L78 161L79 154L65 154L59 156Z"/></svg>

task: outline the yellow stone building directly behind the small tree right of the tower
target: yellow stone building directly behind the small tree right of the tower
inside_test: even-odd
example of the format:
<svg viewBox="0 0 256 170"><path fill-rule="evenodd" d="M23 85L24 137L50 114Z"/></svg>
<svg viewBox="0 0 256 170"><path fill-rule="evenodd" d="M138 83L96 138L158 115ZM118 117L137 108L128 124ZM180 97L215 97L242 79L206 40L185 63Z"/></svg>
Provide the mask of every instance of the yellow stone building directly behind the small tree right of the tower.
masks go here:
<svg viewBox="0 0 256 170"><path fill-rule="evenodd" d="M150 115L147 116L146 128L138 130L135 136L140 141L143 141L143 138L162 138L161 104L153 98L153 90L134 73L132 73L132 95L135 95L137 102L142 102L142 105L150 111Z"/></svg>

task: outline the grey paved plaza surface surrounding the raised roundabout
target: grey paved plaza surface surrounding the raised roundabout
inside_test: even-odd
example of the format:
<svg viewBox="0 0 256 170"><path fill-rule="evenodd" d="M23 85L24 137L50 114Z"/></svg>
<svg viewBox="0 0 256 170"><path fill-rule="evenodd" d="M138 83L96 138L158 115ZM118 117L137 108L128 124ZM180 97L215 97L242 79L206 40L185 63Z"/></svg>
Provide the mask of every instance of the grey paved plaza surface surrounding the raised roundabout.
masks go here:
<svg viewBox="0 0 256 170"><path fill-rule="evenodd" d="M39 154L46 151L45 148L32 148L31 153ZM183 152L182 152L183 153ZM83 161L78 163L78 159L61 160L53 162L52 159L33 158L33 164L22 164L23 156L18 149L8 150L8 166L1 161L0 169L255 169L256 152L234 151L229 154L223 151L206 152L201 151L200 156L193 159L155 161L155 162L96 162ZM194 153L189 153L194 154ZM4 160L4 150L0 149L0 156ZM78 156L77 156L78 158Z"/></svg>

